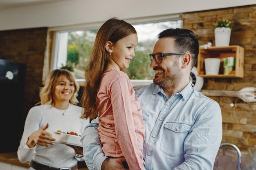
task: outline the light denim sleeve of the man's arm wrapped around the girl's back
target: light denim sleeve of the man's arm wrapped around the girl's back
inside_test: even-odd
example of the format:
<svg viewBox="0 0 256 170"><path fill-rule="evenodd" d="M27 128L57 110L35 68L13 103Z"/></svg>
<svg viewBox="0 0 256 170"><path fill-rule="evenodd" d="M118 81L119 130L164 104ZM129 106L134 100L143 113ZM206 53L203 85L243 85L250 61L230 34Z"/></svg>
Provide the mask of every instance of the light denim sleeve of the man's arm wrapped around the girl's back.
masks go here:
<svg viewBox="0 0 256 170"><path fill-rule="evenodd" d="M107 158L102 150L98 134L99 119L87 125L82 133L83 157L89 170L101 170L101 164Z"/></svg>

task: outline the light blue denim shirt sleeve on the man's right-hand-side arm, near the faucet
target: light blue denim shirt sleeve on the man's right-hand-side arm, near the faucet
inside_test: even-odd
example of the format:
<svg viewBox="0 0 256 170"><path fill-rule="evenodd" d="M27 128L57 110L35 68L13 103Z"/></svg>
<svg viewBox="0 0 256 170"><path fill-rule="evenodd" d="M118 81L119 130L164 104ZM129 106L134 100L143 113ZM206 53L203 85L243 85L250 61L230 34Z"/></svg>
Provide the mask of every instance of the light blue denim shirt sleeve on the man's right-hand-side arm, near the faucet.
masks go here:
<svg viewBox="0 0 256 170"><path fill-rule="evenodd" d="M173 170L212 170L221 139L221 110L212 101L201 110L184 141L185 161Z"/></svg>

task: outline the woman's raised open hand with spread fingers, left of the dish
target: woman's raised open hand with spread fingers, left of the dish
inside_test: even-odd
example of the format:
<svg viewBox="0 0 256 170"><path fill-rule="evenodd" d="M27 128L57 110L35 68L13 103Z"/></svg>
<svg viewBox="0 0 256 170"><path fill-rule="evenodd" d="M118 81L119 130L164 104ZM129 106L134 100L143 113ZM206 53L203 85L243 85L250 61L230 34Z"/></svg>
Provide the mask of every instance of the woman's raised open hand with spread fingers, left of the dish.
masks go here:
<svg viewBox="0 0 256 170"><path fill-rule="evenodd" d="M48 127L49 125L47 124L43 128L31 133L27 140L27 146L29 146L29 148L33 148L36 144L45 147L49 147L49 144L52 145L52 141L55 141L55 139L52 138L52 135L49 132L45 131Z"/></svg>

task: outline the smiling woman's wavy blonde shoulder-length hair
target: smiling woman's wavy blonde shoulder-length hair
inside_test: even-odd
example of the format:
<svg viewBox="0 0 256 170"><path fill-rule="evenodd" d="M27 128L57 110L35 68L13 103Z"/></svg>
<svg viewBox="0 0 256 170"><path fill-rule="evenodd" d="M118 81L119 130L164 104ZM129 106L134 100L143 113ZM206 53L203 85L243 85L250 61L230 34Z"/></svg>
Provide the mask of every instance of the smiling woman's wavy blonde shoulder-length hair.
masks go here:
<svg viewBox="0 0 256 170"><path fill-rule="evenodd" d="M53 91L57 83L60 81L61 76L65 76L70 82L74 83L74 94L70 99L71 104L77 104L79 101L76 99L79 90L79 84L76 82L74 75L65 69L56 69L52 71L45 80L45 86L40 89L40 104L54 104Z"/></svg>

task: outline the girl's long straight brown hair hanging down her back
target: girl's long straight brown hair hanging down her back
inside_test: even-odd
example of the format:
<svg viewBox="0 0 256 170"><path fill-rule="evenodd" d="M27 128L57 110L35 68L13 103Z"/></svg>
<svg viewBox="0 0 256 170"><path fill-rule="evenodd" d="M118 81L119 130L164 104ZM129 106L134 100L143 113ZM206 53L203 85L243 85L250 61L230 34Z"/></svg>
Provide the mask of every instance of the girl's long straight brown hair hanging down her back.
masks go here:
<svg viewBox="0 0 256 170"><path fill-rule="evenodd" d="M85 73L85 87L81 101L84 111L81 118L87 119L90 117L94 119L98 115L97 91L101 75L105 71L109 62L108 57L110 57L105 48L107 41L115 43L133 33L137 32L131 24L117 18L110 18L99 29Z"/></svg>

